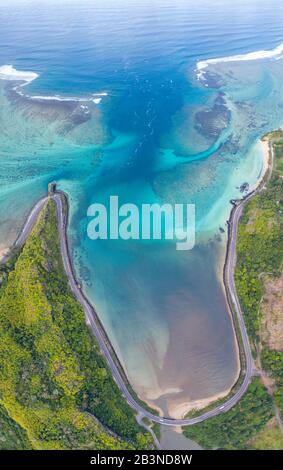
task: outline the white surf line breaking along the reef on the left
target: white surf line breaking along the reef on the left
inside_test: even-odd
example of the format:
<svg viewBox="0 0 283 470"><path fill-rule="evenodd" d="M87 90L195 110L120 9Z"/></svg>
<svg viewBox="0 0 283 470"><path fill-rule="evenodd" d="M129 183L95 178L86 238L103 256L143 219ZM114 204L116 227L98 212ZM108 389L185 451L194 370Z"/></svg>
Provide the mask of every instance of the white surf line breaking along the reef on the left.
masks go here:
<svg viewBox="0 0 283 470"><path fill-rule="evenodd" d="M15 69L12 65L2 65L0 66L0 80L8 81L21 81L23 83L14 87L14 90L20 95L24 96L31 100L44 100L44 101L65 101L65 102L90 102L92 101L95 104L99 104L104 96L108 96L107 92L101 93L92 93L91 97L64 97L60 95L28 95L18 90L18 88L23 87L31 83L33 80L36 80L39 77L39 74L36 72L21 71Z"/></svg>

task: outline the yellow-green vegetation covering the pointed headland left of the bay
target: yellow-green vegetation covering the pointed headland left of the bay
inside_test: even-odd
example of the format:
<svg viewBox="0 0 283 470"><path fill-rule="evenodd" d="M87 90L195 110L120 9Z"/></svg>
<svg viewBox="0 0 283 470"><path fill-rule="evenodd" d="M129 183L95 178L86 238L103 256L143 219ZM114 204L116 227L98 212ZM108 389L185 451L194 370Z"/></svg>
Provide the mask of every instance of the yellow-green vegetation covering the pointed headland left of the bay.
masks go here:
<svg viewBox="0 0 283 470"><path fill-rule="evenodd" d="M151 436L122 398L68 287L54 201L2 272L0 421L7 429L2 447L150 447Z"/></svg>

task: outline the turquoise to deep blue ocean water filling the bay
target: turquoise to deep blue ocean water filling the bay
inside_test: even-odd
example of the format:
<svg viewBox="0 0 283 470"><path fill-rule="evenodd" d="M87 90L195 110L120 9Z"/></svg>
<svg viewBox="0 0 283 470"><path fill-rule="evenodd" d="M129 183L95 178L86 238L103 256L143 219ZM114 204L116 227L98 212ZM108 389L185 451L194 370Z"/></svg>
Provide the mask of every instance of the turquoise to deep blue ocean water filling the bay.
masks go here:
<svg viewBox="0 0 283 470"><path fill-rule="evenodd" d="M278 0L0 1L0 67L39 74L25 94L79 97L91 114L0 80L0 248L56 180L85 292L136 391L171 415L237 376L221 281L229 200L258 181L258 138L283 121L280 57L215 64L206 82L196 64L275 48L282 15ZM89 240L88 206L116 194L195 203L196 247Z"/></svg>

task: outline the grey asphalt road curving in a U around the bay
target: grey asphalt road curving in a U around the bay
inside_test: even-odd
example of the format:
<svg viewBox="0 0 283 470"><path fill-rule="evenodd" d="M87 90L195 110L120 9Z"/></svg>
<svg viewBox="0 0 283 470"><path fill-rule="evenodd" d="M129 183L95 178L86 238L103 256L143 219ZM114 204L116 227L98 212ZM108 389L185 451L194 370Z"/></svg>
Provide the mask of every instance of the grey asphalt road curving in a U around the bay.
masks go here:
<svg viewBox="0 0 283 470"><path fill-rule="evenodd" d="M225 413L230 408L232 408L242 398L242 396L246 392L249 386L251 377L254 373L254 370L253 370L253 360L252 360L249 339L248 339L245 323L243 320L243 316L242 316L242 312L241 312L241 308L239 305L239 301L238 301L236 289L235 289L235 284L234 284L234 266L236 262L236 241L237 241L238 222L242 213L244 203L248 199L253 197L254 194L255 193L252 193L249 196L247 196L244 201L238 202L237 206L235 206L234 208L232 217L230 219L230 239L229 239L229 248L228 248L226 267L225 267L225 273L224 273L225 283L229 290L230 298L234 304L234 310L235 310L235 314L237 315L239 328L240 328L240 332L242 336L242 342L243 342L244 353L245 353L245 358L246 358L245 377L239 389L226 402L222 403L221 405L216 406L212 410L207 411L206 413L203 413L200 416L197 416L195 418L189 418L189 419L172 419L172 418L165 418L165 417L162 418L160 416L156 416L152 414L150 411L144 409L142 405L139 402L137 402L135 398L129 392L127 388L127 384L119 370L119 367L117 366L116 360L113 359L113 356L111 354L111 349L108 347L107 341L105 340L105 336L103 335L101 331L101 326L97 319L96 312L94 308L92 307L92 305L89 303L89 301L86 299L84 294L82 293L81 288L75 279L73 269L72 269L72 264L70 261L69 251L68 251L68 244L67 244L67 237L66 237L66 220L65 220L63 203L62 203L62 196L59 192L56 192L54 195L49 196L49 197L52 197L52 199L56 203L58 227L59 227L59 234L60 234L61 254L62 254L64 269L69 280L70 288L84 309L86 319L92 329L93 334L96 337L96 340L101 348L101 351L103 352L106 358L106 361L111 370L113 378L116 381L117 385L119 386L122 392L122 395L127 400L129 405L138 413L139 417L146 416L151 421L154 421L159 424L168 425L168 426L192 426L212 416L217 416L221 413ZM22 232L19 235L18 239L16 240L14 246L19 247L24 243L35 221L37 220L41 209L43 208L47 200L48 200L48 197L42 198L33 207L33 209L31 210L25 222Z"/></svg>

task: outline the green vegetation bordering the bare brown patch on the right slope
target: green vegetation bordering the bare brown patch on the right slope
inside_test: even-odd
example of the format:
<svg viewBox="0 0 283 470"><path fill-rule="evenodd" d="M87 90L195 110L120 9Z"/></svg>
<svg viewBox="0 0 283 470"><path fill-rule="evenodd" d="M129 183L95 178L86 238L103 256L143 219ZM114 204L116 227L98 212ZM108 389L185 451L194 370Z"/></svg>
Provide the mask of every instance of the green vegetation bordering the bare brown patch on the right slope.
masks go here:
<svg viewBox="0 0 283 470"><path fill-rule="evenodd" d="M261 351L263 369L275 381L274 398L282 413L283 345L281 350L269 349L261 336L261 301L264 274L269 273L269 279L271 275L276 282L283 272L283 133L276 131L265 138L276 138L272 177L267 187L245 206L239 224L235 281L251 342L255 352ZM282 310L283 299L281 302Z"/></svg>

